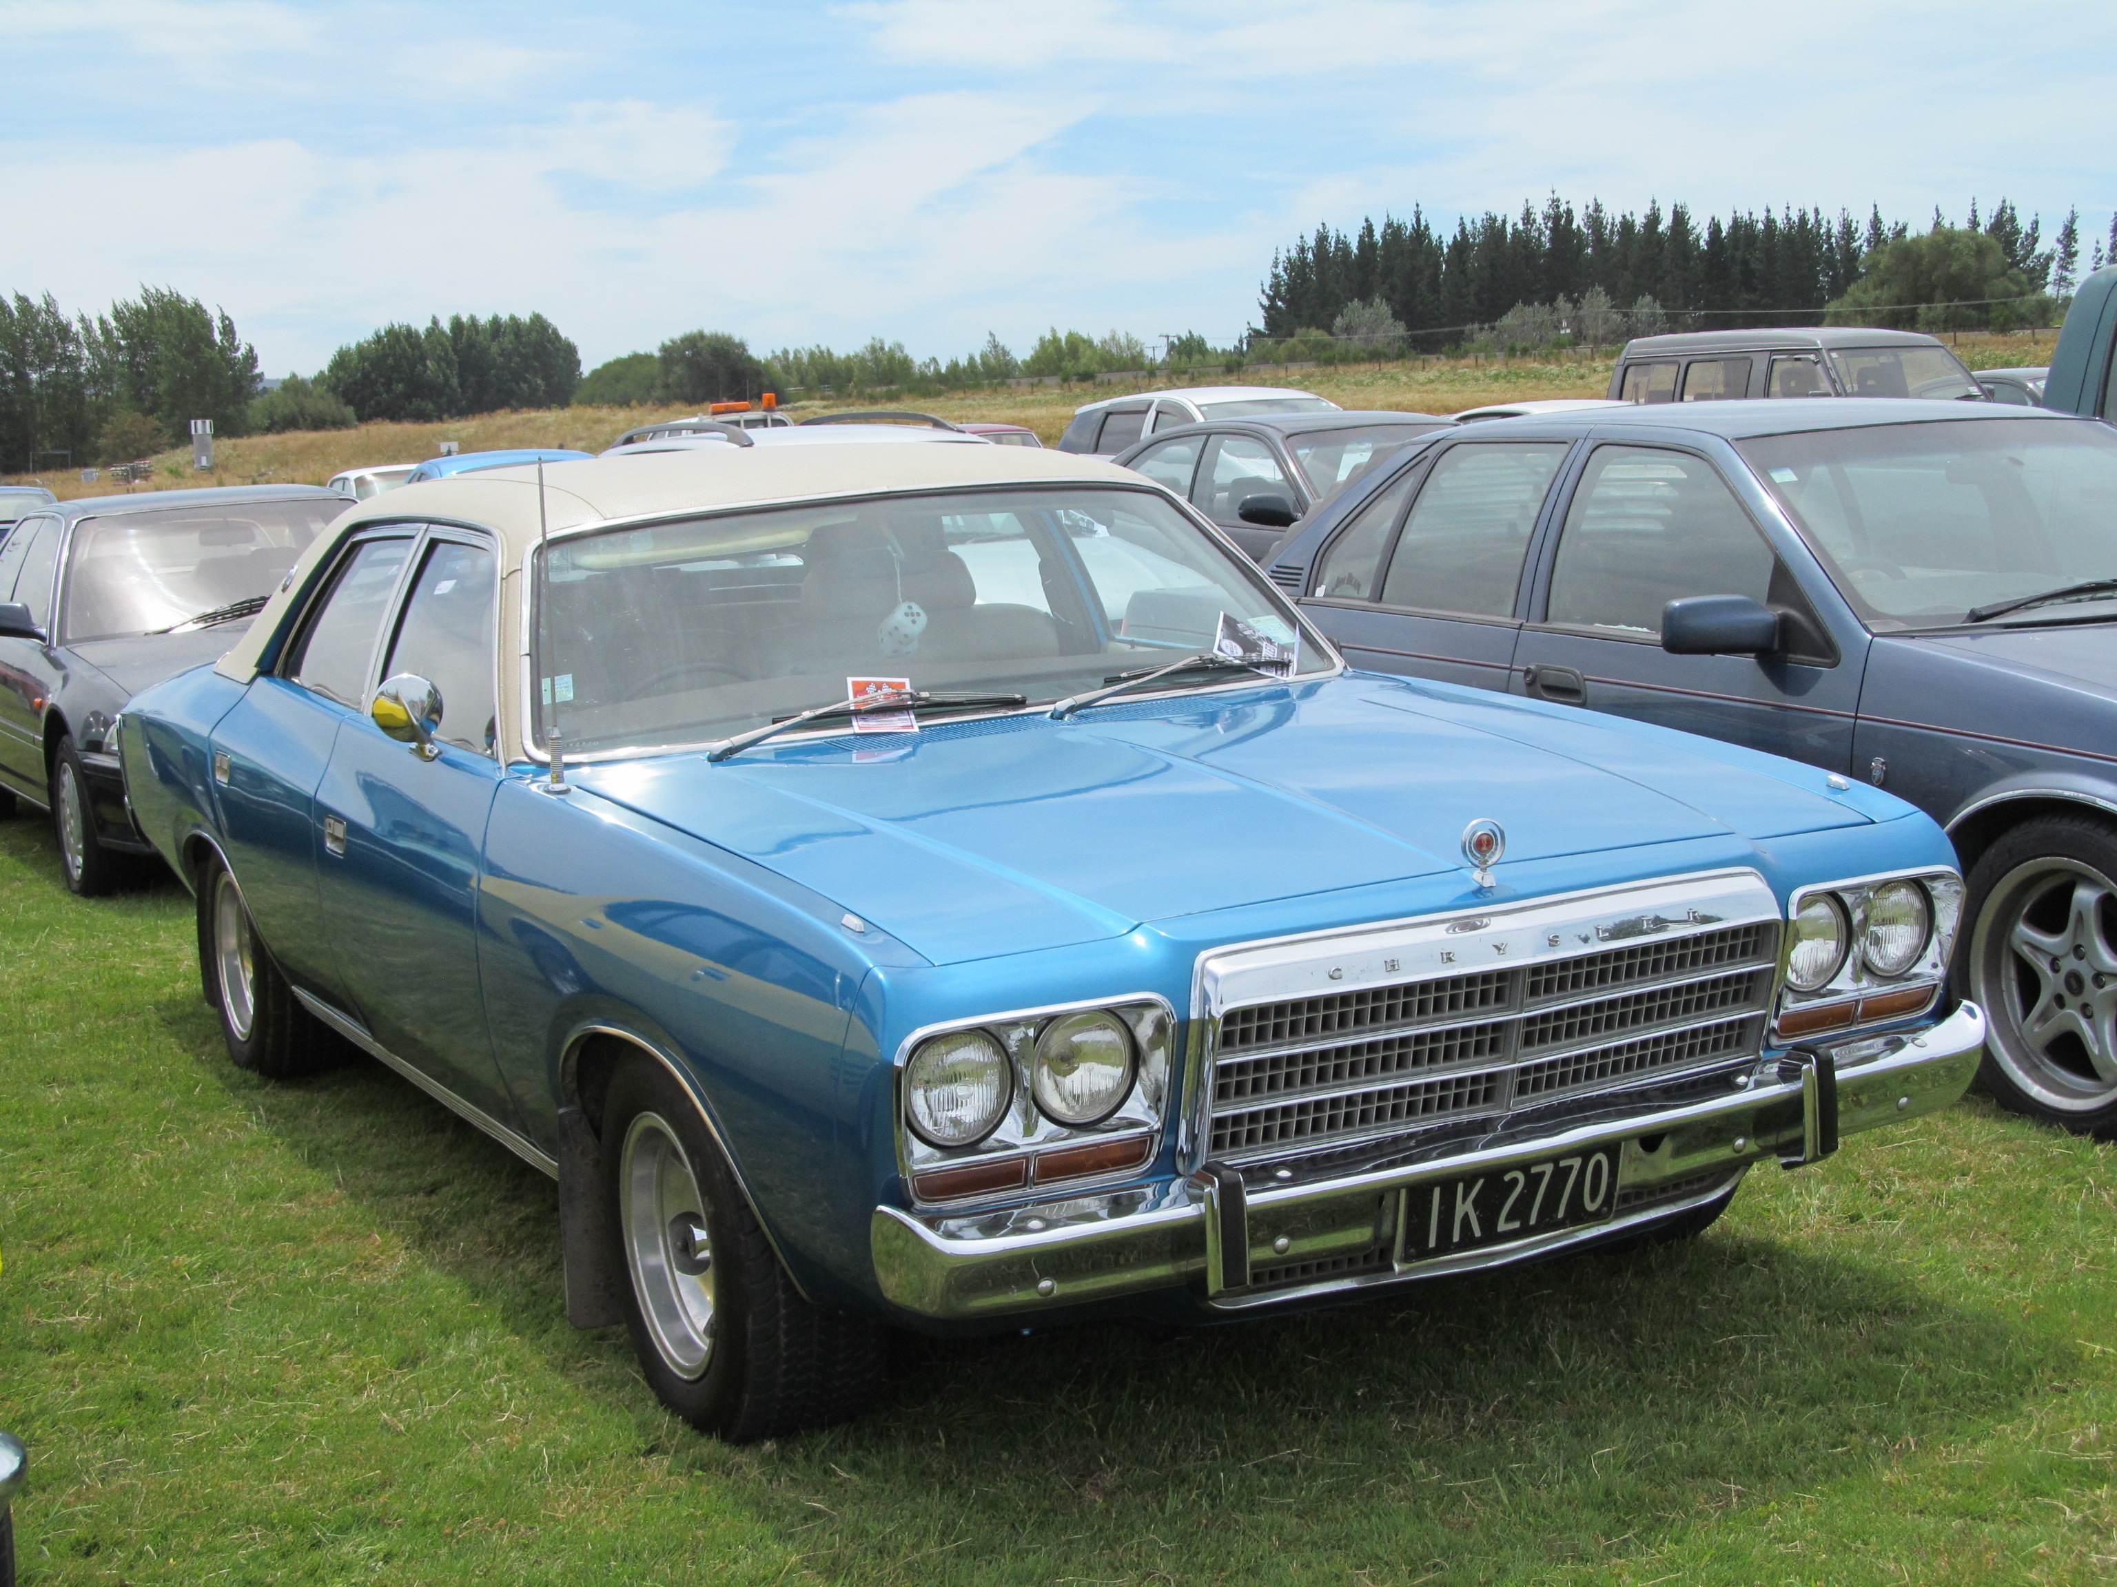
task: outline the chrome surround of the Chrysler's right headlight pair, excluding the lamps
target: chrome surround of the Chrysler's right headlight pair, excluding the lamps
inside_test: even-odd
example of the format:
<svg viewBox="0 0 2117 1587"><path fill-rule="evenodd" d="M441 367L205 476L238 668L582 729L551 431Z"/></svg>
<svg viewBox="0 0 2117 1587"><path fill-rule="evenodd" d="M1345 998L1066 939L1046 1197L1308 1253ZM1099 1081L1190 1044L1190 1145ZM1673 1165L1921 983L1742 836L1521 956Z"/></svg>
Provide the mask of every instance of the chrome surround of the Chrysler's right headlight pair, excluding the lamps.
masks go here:
<svg viewBox="0 0 2117 1587"><path fill-rule="evenodd" d="M1867 906L1874 895L1897 882L1912 882L1926 904L1926 933L1916 954L1897 973L1882 973L1867 959ZM1793 923L1802 908L1831 895L1846 923L1846 952L1827 982L1814 988L1795 986L1789 965L1793 956ZM1772 1028L1780 1041L1829 1037L1861 1026L1890 1024L1931 1009L1948 982L1948 961L1962 925L1962 876L1939 865L1848 876L1842 880L1799 887L1787 899L1787 929L1778 954L1778 992ZM1910 995L1924 990L1922 1001ZM1871 1007L1869 1007L1871 1005ZM1791 1018L1789 1018L1791 1016Z"/></svg>

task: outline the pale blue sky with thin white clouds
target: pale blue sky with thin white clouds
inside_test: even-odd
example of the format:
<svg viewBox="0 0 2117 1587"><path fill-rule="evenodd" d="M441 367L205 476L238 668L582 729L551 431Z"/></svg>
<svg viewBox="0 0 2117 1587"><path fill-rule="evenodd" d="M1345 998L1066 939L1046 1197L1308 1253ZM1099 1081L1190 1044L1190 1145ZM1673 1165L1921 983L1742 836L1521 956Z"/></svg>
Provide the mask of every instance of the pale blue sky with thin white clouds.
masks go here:
<svg viewBox="0 0 2117 1587"><path fill-rule="evenodd" d="M457 311L589 366L696 326L1226 341L1317 220L1552 188L2117 205L2106 0L0 0L0 290L176 286L273 375Z"/></svg>

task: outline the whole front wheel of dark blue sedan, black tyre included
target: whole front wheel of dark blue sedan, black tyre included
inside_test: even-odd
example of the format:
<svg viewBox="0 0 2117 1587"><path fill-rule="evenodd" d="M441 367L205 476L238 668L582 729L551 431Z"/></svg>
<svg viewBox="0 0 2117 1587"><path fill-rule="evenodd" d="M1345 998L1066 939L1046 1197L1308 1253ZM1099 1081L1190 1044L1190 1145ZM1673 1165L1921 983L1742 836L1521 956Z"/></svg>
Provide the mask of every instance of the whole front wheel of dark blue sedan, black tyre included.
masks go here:
<svg viewBox="0 0 2117 1587"><path fill-rule="evenodd" d="M1971 865L1954 973L1986 1011L1992 1100L2117 1138L2117 827L2045 815L2001 834Z"/></svg>

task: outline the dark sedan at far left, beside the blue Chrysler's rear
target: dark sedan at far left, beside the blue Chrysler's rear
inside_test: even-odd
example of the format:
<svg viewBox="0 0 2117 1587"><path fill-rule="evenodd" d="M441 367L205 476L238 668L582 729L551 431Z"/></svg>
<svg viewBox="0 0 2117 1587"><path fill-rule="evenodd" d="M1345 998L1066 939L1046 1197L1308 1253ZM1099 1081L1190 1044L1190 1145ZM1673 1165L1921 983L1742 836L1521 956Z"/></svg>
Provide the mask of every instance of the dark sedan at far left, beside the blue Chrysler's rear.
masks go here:
<svg viewBox="0 0 2117 1587"><path fill-rule="evenodd" d="M51 810L72 891L108 893L155 853L125 808L125 703L227 652L349 506L315 485L99 495L0 546L0 815Z"/></svg>

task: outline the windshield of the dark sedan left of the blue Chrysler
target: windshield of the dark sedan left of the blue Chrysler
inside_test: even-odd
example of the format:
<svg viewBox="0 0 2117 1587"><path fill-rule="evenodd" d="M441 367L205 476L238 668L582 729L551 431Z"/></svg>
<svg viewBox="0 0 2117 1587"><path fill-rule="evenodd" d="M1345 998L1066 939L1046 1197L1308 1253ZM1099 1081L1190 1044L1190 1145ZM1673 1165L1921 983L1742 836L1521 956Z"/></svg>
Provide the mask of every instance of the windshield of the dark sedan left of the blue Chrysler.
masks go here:
<svg viewBox="0 0 2117 1587"><path fill-rule="evenodd" d="M246 501L83 518L66 569L66 639L155 633L271 595L345 501Z"/></svg>

